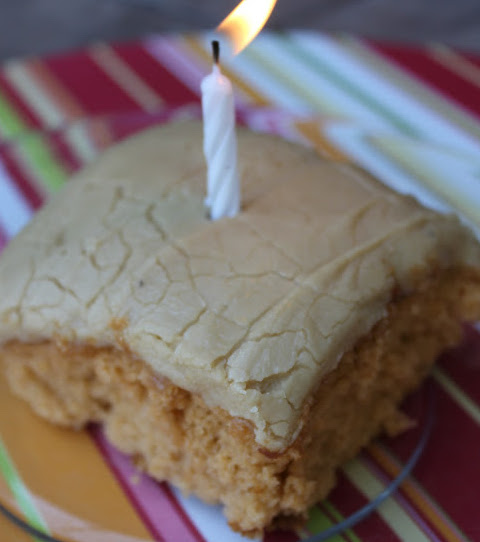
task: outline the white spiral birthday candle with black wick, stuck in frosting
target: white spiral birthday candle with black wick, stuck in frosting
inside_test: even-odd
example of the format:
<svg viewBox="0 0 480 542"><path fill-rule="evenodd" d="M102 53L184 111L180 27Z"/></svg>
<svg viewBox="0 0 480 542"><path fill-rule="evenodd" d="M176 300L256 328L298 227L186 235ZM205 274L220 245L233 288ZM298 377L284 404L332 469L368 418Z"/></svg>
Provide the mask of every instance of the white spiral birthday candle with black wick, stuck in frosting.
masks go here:
<svg viewBox="0 0 480 542"><path fill-rule="evenodd" d="M235 216L240 210L237 170L235 106L230 80L218 66L218 42L213 44L214 65L201 84L203 151L207 161L207 198L210 218Z"/></svg>

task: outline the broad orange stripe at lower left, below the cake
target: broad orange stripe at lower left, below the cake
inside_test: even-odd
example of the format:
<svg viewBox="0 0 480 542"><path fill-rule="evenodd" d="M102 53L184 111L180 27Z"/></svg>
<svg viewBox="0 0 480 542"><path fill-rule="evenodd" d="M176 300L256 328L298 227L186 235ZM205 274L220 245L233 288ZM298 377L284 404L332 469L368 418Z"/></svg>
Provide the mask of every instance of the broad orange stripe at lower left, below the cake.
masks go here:
<svg viewBox="0 0 480 542"><path fill-rule="evenodd" d="M151 540L90 436L33 415L1 374L0 433L54 536L75 533L75 540L88 541L119 533L115 540Z"/></svg>

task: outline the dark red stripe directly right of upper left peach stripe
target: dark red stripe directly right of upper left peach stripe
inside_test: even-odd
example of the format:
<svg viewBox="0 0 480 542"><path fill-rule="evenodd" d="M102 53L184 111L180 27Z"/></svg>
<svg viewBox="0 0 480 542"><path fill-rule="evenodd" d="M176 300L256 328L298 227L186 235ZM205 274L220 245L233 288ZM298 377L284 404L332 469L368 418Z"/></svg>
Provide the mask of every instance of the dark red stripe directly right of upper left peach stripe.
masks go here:
<svg viewBox="0 0 480 542"><path fill-rule="evenodd" d="M86 52L48 57L44 63L81 104L86 115L139 109L138 104Z"/></svg>

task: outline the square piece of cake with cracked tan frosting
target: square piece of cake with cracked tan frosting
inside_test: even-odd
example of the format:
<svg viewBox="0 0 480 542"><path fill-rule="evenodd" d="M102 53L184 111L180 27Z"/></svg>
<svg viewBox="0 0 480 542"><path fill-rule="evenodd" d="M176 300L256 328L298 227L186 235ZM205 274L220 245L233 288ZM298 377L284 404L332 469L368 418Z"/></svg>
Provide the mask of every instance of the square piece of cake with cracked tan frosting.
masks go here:
<svg viewBox="0 0 480 542"><path fill-rule="evenodd" d="M231 527L292 525L480 317L480 247L359 168L239 130L242 211L204 208L201 125L77 174L0 257L0 357L52 423L102 423Z"/></svg>

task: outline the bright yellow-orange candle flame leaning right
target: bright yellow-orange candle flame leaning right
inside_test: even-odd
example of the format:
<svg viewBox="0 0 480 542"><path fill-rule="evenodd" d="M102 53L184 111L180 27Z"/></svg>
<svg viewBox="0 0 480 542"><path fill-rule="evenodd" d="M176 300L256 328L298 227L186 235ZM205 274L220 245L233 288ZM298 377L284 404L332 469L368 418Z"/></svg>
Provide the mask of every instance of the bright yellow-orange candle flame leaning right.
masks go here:
<svg viewBox="0 0 480 542"><path fill-rule="evenodd" d="M235 54L257 36L276 3L277 0L243 0L218 25L217 30L230 38Z"/></svg>

